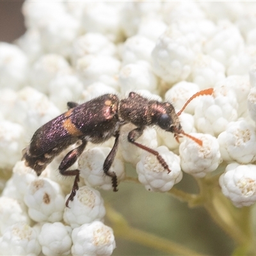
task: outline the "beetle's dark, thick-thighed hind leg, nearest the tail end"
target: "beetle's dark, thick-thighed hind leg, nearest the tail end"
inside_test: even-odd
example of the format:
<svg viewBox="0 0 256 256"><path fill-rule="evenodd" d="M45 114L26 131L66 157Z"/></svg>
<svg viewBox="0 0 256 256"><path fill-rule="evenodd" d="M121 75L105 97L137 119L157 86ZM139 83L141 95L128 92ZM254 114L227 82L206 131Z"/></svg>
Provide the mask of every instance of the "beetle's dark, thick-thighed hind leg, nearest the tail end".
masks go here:
<svg viewBox="0 0 256 256"><path fill-rule="evenodd" d="M68 154L64 157L64 159L61 161L59 166L61 175L76 176L72 191L66 202L67 207L68 207L68 202L70 200L72 201L74 199L74 196L76 195L76 191L78 189L78 182L79 182L79 173L80 173L78 169L76 170L67 170L67 169L70 168L70 166L72 166L77 161L77 158L83 153L86 143L87 143L86 140L82 140L82 144L79 147L74 148L73 150L68 152Z"/></svg>

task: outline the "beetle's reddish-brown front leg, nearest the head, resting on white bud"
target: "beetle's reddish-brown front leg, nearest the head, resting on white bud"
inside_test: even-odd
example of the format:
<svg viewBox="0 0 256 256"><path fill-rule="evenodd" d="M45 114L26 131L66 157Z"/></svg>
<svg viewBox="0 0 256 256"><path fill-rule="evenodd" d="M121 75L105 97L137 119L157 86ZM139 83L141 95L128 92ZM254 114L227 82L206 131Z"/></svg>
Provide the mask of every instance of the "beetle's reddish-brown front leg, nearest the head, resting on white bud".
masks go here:
<svg viewBox="0 0 256 256"><path fill-rule="evenodd" d="M166 162L164 161L163 157L161 157L161 155L159 154L159 152L157 152L156 150L149 148L145 145L142 145L138 142L136 142L136 140L138 138L140 138L140 136L143 134L144 131L144 127L140 127L140 128L136 128L133 129L131 132L129 132L128 134L128 141L131 142L132 144L136 145L137 147L146 150L148 153L153 154L154 156L156 156L157 160L159 161L159 163L163 166L163 168L165 170L169 172L171 172L171 170L168 167L168 164L166 164Z"/></svg>

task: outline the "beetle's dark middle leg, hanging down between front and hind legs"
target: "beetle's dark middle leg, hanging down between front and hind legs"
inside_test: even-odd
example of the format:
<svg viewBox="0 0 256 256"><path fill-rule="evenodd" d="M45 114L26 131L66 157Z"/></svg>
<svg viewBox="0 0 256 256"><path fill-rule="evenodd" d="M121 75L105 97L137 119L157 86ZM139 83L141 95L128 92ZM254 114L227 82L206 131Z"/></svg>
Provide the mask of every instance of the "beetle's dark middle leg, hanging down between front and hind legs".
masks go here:
<svg viewBox="0 0 256 256"><path fill-rule="evenodd" d="M109 169L115 159L116 156L116 151L118 147L118 138L119 138L119 133L115 135L115 143L113 145L113 148L109 152L108 156L106 157L104 164L103 164L103 171L106 175L111 177L112 179L112 186L113 186L113 191L117 191L117 177L115 172L109 172Z"/></svg>

